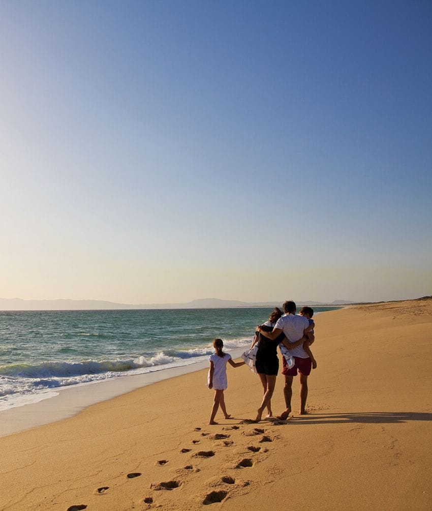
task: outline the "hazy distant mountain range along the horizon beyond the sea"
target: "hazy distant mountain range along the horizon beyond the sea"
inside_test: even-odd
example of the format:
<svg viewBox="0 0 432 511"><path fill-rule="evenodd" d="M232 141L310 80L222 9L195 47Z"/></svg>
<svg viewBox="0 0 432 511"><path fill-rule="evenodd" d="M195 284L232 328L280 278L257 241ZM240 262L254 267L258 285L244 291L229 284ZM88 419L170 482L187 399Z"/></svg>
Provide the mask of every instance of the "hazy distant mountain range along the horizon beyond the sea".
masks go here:
<svg viewBox="0 0 432 511"><path fill-rule="evenodd" d="M299 302L298 306L342 306L355 304L355 301L334 300L331 304L320 301ZM247 302L239 300L220 300L219 298L200 298L184 304L117 304L104 300L22 300L21 298L0 298L2 311L65 311L65 310L112 310L112 309L223 309L230 307L274 307L280 301Z"/></svg>

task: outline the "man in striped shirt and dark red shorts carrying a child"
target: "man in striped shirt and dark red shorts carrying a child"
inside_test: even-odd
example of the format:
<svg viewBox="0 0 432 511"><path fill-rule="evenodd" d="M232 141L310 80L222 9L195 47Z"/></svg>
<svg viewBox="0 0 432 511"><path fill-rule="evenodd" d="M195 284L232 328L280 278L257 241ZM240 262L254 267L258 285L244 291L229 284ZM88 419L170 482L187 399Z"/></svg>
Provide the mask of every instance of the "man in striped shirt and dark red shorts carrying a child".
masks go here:
<svg viewBox="0 0 432 511"><path fill-rule="evenodd" d="M283 304L283 311L285 316L279 318L276 322L275 328L272 332L265 332L264 330L257 327L257 330L265 337L275 340L282 332L285 334L290 343L296 343L303 336L307 341L306 334L312 330L313 327L309 326L309 321L304 316L296 315L296 304L294 301L285 301ZM310 337L309 332L309 337ZM286 345L286 344L285 344ZM282 374L285 377L285 385L283 387L283 396L285 398L286 410L279 415L279 419L286 420L291 413L291 398L293 396L293 378L297 376L297 371L300 373L300 415L306 413L306 400L307 400L307 377L310 375L312 368L312 361L310 360L307 353L303 350L303 345L300 344L291 350L291 354L294 357L295 364L290 369L285 362L285 358L282 357L283 369Z"/></svg>

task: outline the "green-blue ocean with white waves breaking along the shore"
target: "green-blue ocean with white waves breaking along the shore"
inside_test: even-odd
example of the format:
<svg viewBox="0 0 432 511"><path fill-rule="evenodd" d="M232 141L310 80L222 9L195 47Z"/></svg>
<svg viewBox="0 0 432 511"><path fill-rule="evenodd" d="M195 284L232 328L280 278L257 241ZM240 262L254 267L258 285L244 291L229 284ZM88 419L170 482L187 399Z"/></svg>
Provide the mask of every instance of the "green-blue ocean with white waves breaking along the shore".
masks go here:
<svg viewBox="0 0 432 511"><path fill-rule="evenodd" d="M60 387L205 361L214 337L227 352L246 349L271 310L0 311L0 410Z"/></svg>

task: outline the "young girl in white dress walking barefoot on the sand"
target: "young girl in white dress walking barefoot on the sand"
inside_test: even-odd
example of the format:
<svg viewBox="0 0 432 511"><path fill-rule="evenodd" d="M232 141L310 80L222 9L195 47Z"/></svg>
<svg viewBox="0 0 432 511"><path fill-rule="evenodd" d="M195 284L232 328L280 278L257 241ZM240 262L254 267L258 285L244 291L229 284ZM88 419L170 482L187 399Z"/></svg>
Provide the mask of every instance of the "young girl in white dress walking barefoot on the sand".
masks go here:
<svg viewBox="0 0 432 511"><path fill-rule="evenodd" d="M214 339L213 347L214 353L209 358L210 370L208 373L208 388L214 388L214 400L208 424L218 424L214 422L214 417L216 416L219 406L221 406L225 419L229 419L231 416L227 413L224 399L224 390L228 387L227 362L233 367L239 367L245 364L245 362L233 362L231 355L223 352L224 343L222 339Z"/></svg>

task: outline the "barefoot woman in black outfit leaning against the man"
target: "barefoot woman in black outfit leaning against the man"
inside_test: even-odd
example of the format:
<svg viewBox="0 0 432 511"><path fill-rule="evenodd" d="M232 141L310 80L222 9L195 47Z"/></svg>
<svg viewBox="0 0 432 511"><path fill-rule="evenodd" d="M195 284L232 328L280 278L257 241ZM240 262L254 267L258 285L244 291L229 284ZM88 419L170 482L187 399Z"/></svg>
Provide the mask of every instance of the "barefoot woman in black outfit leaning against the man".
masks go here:
<svg viewBox="0 0 432 511"><path fill-rule="evenodd" d="M282 311L275 307L274 311L269 316L269 320L261 326L262 330L271 332L276 324L276 321L282 316L282 314ZM277 346L280 342L283 341L284 338L285 335L282 333L272 341L261 335L259 332L255 332L252 346L256 342L259 342L258 351L256 353L255 368L259 379L261 380L263 389L262 403L257 410L255 422L259 422L261 420L262 412L266 407L268 410L267 417L271 417L273 415L271 399L276 385L276 376L279 370Z"/></svg>

